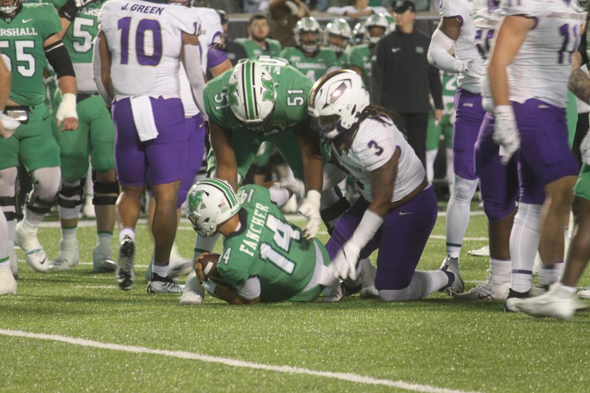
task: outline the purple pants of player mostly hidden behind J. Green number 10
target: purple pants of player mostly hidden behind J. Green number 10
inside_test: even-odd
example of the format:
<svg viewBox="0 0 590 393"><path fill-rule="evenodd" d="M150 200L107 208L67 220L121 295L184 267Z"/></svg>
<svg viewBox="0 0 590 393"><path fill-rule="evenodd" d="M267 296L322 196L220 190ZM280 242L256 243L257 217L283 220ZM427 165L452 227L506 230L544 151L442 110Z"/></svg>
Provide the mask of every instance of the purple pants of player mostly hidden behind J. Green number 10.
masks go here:
<svg viewBox="0 0 590 393"><path fill-rule="evenodd" d="M181 180L181 187L178 190L178 203L176 207L181 207L185 202L188 190L191 189L195 181L196 174L201 169L203 163L203 154L205 153L205 123L203 115L198 114L193 117L185 118L186 135L188 137L188 151L186 153L186 164L184 174Z"/></svg>

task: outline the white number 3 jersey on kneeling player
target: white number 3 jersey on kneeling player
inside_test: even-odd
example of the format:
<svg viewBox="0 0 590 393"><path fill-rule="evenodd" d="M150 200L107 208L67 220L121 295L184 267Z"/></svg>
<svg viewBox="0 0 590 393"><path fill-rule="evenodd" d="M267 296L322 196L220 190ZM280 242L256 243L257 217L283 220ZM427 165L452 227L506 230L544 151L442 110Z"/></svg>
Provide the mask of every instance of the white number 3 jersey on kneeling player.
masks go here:
<svg viewBox="0 0 590 393"><path fill-rule="evenodd" d="M360 123L349 150L338 151L332 145L340 165L346 169L360 188L362 196L373 202L371 172L382 167L399 148L398 172L391 202L401 200L424 181L426 171L414 149L394 124L383 124L368 118Z"/></svg>

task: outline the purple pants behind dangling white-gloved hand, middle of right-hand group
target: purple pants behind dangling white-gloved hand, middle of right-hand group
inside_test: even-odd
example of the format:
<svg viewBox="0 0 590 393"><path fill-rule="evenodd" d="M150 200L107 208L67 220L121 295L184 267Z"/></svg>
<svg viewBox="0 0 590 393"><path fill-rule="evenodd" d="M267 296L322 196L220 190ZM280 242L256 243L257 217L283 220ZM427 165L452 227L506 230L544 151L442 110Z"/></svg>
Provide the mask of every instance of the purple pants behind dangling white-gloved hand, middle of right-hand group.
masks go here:
<svg viewBox="0 0 590 393"><path fill-rule="evenodd" d="M506 218L516 208L518 173L516 159L500 163L500 147L494 143L494 117L486 113L475 146L476 175L480 180L483 210L491 223Z"/></svg>

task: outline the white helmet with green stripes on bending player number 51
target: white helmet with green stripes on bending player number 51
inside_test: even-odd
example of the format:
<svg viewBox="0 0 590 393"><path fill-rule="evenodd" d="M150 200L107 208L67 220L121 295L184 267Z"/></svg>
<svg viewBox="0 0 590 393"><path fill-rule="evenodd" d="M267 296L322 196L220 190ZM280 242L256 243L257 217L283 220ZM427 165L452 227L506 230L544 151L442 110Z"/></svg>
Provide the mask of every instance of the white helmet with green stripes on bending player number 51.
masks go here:
<svg viewBox="0 0 590 393"><path fill-rule="evenodd" d="M238 62L230 76L226 99L245 128L262 131L273 117L277 101L273 77L256 61Z"/></svg>

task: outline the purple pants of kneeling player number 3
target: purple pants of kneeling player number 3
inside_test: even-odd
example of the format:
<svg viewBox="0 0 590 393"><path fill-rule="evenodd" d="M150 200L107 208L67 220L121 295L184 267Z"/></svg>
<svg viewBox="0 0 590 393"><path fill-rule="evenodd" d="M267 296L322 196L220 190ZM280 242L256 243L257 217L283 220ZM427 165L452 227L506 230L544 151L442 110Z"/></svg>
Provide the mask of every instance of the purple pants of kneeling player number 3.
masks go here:
<svg viewBox="0 0 590 393"><path fill-rule="evenodd" d="M330 259L350 239L368 207L369 202L360 197L340 217L326 244ZM379 249L375 288L404 289L409 285L437 221L437 212L437 197L429 186L385 216L373 239L360 252L362 259Z"/></svg>

